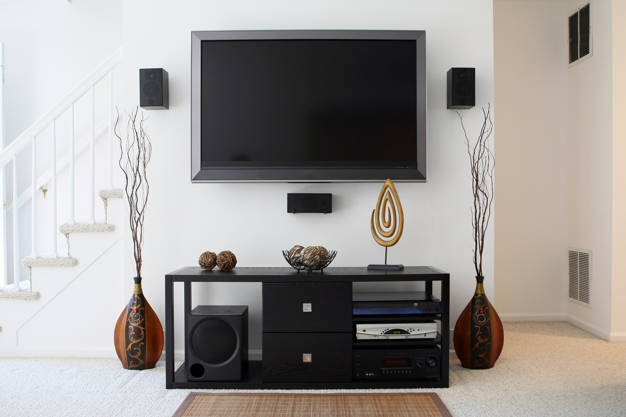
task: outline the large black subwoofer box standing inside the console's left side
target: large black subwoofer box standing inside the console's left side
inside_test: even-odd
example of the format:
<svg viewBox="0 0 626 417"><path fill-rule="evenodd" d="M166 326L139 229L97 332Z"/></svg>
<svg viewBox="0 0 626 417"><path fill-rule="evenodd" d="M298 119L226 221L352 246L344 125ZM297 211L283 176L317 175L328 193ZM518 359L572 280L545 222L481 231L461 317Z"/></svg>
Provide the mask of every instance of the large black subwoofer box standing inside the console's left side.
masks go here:
<svg viewBox="0 0 626 417"><path fill-rule="evenodd" d="M248 364L248 306L197 306L187 315L189 381L241 381Z"/></svg>

